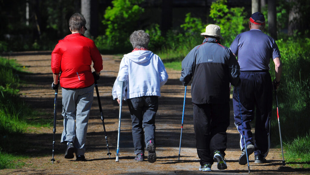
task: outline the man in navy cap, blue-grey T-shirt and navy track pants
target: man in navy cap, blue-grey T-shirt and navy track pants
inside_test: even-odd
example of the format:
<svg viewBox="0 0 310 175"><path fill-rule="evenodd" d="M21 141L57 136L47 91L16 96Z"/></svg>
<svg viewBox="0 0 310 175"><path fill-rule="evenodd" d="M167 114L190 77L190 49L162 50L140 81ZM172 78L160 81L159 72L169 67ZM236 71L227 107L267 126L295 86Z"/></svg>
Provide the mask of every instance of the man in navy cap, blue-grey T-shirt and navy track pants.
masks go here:
<svg viewBox="0 0 310 175"><path fill-rule="evenodd" d="M275 40L264 34L265 17L260 12L251 15L249 31L238 34L230 45L232 53L240 65L241 84L238 86L243 126L244 143L237 88L233 90L233 110L235 125L240 133L242 150L239 164L247 164L248 156L254 152L254 163L265 163L270 147L270 115L272 110L272 88L277 89L281 78L281 55ZM275 64L275 79L269 74L269 63L272 58ZM255 139L251 132L250 122L255 119ZM246 148L245 148L246 145Z"/></svg>

